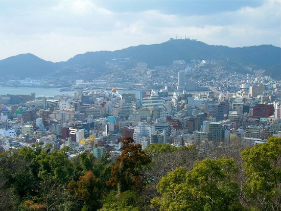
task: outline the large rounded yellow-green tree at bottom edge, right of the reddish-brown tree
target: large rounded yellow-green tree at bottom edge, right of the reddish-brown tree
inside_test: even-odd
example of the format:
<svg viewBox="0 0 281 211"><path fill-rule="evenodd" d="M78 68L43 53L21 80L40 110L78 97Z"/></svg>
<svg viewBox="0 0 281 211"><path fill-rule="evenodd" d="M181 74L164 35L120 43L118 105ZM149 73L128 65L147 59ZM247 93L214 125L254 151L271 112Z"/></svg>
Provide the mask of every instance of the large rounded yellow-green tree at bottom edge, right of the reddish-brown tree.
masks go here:
<svg viewBox="0 0 281 211"><path fill-rule="evenodd" d="M186 172L179 167L157 184L161 197L152 200L160 210L242 210L239 186L232 180L237 173L234 159L197 161Z"/></svg>

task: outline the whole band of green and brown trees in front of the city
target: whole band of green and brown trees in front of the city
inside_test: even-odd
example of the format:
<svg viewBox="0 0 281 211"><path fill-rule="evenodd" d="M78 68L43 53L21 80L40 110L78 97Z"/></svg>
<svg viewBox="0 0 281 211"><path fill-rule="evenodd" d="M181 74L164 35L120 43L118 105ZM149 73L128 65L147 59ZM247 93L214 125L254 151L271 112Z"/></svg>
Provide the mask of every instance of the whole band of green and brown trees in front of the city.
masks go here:
<svg viewBox="0 0 281 211"><path fill-rule="evenodd" d="M68 148L20 148L0 154L0 210L279 210L281 138L197 160L194 148L123 140L116 160ZM242 148L238 148L240 151ZM228 153L228 154L227 154ZM226 158L228 157L228 158ZM243 161L243 162L242 162ZM239 176L238 176L239 175Z"/></svg>

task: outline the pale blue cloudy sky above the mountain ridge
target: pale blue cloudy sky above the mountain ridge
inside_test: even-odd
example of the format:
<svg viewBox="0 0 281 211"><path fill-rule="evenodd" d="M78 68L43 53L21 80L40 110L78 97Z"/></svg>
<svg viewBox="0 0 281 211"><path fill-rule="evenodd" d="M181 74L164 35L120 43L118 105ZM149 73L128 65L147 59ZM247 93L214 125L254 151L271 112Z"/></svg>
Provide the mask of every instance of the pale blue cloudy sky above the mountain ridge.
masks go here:
<svg viewBox="0 0 281 211"><path fill-rule="evenodd" d="M66 61L170 38L281 45L281 1L0 0L0 60L32 53Z"/></svg>

